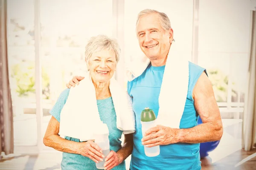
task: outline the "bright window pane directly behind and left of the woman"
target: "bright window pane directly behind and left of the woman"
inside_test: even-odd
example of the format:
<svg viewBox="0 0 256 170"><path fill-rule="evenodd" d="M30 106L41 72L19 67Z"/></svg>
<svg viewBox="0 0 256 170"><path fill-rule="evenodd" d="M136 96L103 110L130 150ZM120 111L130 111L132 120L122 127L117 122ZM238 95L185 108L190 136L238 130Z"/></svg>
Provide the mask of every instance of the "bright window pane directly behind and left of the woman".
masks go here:
<svg viewBox="0 0 256 170"><path fill-rule="evenodd" d="M44 132L51 118L49 110L66 83L87 70L87 41L98 34L112 36L112 13L112 0L41 1Z"/></svg>

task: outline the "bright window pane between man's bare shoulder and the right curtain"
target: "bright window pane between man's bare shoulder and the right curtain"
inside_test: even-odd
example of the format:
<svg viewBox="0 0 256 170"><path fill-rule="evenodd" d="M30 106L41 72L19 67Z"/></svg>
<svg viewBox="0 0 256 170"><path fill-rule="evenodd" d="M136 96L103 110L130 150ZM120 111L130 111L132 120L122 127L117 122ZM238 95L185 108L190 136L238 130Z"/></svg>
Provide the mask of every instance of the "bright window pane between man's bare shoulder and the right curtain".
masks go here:
<svg viewBox="0 0 256 170"><path fill-rule="evenodd" d="M222 116L241 119L250 11L242 1L201 0L199 5L198 65L207 68Z"/></svg>

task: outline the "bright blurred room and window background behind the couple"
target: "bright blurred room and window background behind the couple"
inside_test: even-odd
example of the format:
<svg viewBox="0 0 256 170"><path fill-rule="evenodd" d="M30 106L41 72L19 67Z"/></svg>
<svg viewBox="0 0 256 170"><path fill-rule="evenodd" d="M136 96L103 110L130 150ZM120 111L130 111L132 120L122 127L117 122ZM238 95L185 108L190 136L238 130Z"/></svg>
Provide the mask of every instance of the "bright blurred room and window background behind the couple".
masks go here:
<svg viewBox="0 0 256 170"><path fill-rule="evenodd" d="M210 153L210 168L222 169L223 163L235 160L227 163L232 169L246 157L239 155L247 141L242 129L256 125L244 122L256 117L246 117L244 111L250 111L255 0L1 0L1 6L6 11L13 148L10 154L2 152L0 169L60 169L61 153L42 143L49 110L66 83L86 71L84 47L98 34L119 40L122 55L115 76L125 88L125 66L141 53L135 23L145 8L166 13L177 50L207 69L224 125L221 143ZM237 157L230 159L232 154ZM128 168L129 158L126 164Z"/></svg>

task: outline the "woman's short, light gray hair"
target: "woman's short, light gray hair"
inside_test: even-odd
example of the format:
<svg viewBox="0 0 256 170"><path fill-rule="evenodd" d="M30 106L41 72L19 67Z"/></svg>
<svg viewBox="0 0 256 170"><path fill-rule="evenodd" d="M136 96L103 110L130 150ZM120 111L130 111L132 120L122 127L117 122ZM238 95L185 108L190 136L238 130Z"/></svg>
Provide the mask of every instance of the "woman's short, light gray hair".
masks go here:
<svg viewBox="0 0 256 170"><path fill-rule="evenodd" d="M106 35L98 35L96 37L91 37L85 46L85 59L88 59L92 56L93 53L108 49L113 51L116 55L116 62L119 61L120 56L120 47L116 39L110 38Z"/></svg>

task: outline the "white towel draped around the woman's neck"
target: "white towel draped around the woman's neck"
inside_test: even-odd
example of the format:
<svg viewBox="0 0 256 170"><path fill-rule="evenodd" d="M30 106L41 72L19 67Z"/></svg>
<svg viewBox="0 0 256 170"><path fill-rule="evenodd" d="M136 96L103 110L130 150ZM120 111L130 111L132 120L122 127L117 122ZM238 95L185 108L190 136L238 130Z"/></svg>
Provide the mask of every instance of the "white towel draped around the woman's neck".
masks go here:
<svg viewBox="0 0 256 170"><path fill-rule="evenodd" d="M135 132L135 116L128 101L128 93L122 90L114 78L110 91L116 111L116 127L124 134ZM129 102L129 103L128 103ZM97 107L96 92L90 74L70 88L67 101L61 111L59 135L87 141L94 139L94 130L102 123Z"/></svg>

